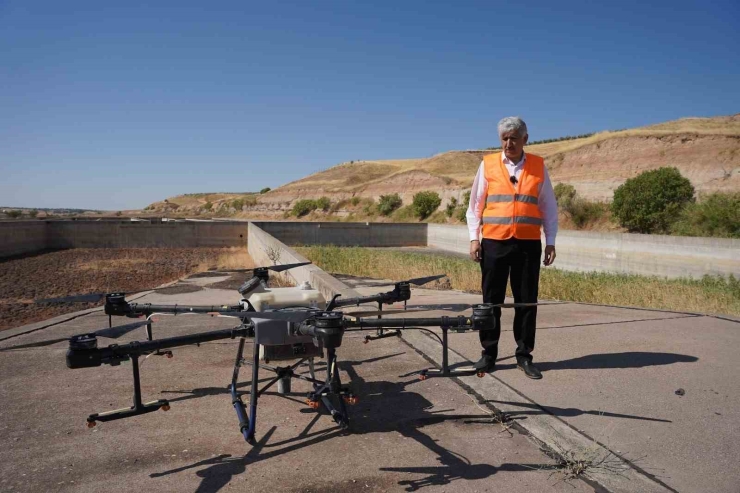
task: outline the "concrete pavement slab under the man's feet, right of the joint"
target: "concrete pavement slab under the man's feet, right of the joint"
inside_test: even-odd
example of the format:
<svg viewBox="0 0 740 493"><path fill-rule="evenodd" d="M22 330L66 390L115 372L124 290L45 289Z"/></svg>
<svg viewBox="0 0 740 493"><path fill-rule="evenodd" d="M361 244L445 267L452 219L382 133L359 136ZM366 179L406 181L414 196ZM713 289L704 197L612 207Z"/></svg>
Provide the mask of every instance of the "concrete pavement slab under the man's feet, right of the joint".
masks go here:
<svg viewBox="0 0 740 493"><path fill-rule="evenodd" d="M365 294L377 291L363 288L359 279L342 280ZM480 297L415 289L409 304L442 302L478 303ZM535 436L541 432L538 438L555 448L578 450L595 440L624 460L629 474L654 481L656 490L740 491L740 380L734 364L740 324L654 310L542 306L534 358L544 378L534 381L516 369L512 321L513 310L504 310L495 373L484 382L470 377L462 383L489 396L488 402ZM439 354L431 338L411 332L404 338ZM475 333L452 335L450 345L453 361L480 355ZM547 427L558 431L548 438ZM609 490L636 484L604 479ZM647 483L633 491L645 488Z"/></svg>

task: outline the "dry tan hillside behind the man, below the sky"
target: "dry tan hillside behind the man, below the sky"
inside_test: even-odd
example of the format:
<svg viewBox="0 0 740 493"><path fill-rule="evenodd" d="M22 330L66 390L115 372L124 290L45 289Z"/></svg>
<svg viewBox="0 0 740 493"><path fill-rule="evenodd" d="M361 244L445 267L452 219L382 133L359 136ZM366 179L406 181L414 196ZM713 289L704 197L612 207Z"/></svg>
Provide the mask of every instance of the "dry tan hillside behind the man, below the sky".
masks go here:
<svg viewBox="0 0 740 493"><path fill-rule="evenodd" d="M740 191L740 114L683 118L525 149L545 158L554 183L570 183L579 195L589 199L611 200L614 189L626 179L662 166L678 168L699 193ZM327 196L336 203L352 197L377 200L380 195L398 193L404 203L410 203L421 190L438 192L444 207L451 197L459 200L469 189L481 157L487 152L493 151L450 151L423 159L354 161L251 198L244 194L197 194L173 197L150 207L154 211L176 208L187 212L210 202L215 212L219 207L229 210L235 199L246 197L247 215L275 217L290 210L300 199Z"/></svg>

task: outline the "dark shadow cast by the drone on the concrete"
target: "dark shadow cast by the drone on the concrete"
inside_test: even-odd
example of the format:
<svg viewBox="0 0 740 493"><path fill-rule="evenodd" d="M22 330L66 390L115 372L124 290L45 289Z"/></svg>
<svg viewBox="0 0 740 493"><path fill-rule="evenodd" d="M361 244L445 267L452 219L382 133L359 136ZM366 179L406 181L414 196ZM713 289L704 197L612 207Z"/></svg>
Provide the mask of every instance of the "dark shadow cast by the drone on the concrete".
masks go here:
<svg viewBox="0 0 740 493"><path fill-rule="evenodd" d="M474 464L466 457L445 448L438 440L424 433L422 428L425 426L444 421L478 420L462 422L477 424L490 423L492 425L494 421L491 420L490 414L450 415L441 414L447 410L433 411L432 408L434 406L430 401L421 394L408 389L410 385L417 383L418 380L405 382L367 381L357 373L357 368L362 365L402 354L405 353L386 355L362 361L339 362L340 369L349 375L353 390L357 395L362 397L360 403L351 408L350 418L352 421L350 425L351 431L349 433L352 435L400 433L404 437L416 441L419 445L431 451L440 463L439 466L431 467L380 467L379 471L422 475L418 479L403 479L398 482L398 485L403 486L406 491L416 491L427 486L448 485L459 479L484 479L496 474L498 471L531 471L533 469L548 467L547 464L506 463L499 466L487 463ZM243 457L221 455L177 469L154 473L151 477L161 477L188 469L198 469L196 475L203 478L203 480L196 491L198 493L219 491L234 476L245 473L251 464L273 459L348 433L338 427L311 431L320 419L327 418L328 416L325 412L317 413L314 419L297 436L270 443L270 437L276 430L276 427L273 427ZM487 421L480 421L480 419L486 419ZM382 461L382 456L379 456L378 460ZM204 466L205 468L203 468Z"/></svg>

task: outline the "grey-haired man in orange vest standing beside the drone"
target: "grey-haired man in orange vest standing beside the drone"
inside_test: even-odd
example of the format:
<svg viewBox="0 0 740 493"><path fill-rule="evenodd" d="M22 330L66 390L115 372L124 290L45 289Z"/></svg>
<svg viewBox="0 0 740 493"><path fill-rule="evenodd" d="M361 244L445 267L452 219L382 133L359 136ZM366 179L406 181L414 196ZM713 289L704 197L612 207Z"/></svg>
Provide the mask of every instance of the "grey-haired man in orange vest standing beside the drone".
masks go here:
<svg viewBox="0 0 740 493"><path fill-rule="evenodd" d="M515 303L536 303L540 278L542 243L545 232L544 265L555 260L558 209L544 160L525 154L527 125L518 117L498 124L502 152L483 157L470 192L467 221L470 230L470 258L480 262L483 302L504 302L506 283L511 279ZM483 239L479 241L482 233ZM542 378L532 363L537 307L515 308L514 339L517 367L526 376ZM482 357L475 364L481 371L493 371L501 335L501 309L494 309L494 326L479 331Z"/></svg>

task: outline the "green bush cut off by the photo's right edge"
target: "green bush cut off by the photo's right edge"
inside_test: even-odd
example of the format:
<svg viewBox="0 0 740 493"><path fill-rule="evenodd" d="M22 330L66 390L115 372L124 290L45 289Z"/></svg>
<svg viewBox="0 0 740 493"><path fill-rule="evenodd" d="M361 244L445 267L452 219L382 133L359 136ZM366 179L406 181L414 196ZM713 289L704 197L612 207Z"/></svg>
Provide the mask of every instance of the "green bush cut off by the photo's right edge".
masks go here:
<svg viewBox="0 0 740 493"><path fill-rule="evenodd" d="M740 238L740 192L713 193L687 204L671 233L681 236Z"/></svg>

